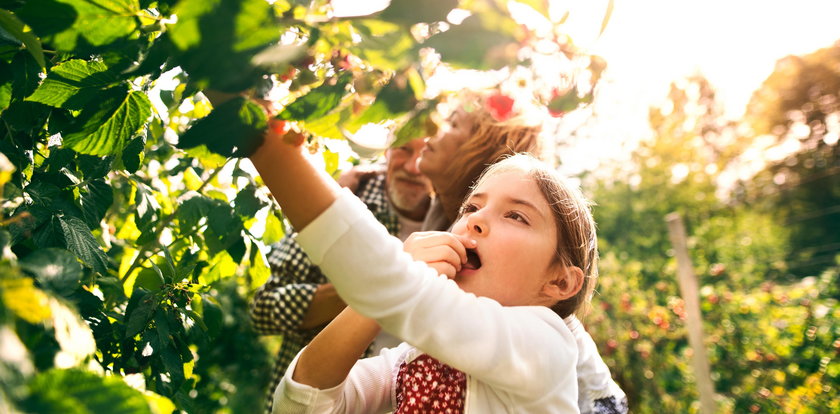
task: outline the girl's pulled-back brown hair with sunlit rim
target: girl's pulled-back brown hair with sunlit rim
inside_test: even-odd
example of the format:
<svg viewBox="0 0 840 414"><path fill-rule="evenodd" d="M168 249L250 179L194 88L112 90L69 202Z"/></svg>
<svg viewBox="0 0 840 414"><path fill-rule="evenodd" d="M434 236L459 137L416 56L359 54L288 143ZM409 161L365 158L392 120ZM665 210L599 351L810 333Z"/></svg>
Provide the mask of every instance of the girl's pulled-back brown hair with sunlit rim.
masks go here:
<svg viewBox="0 0 840 414"><path fill-rule="evenodd" d="M560 173L530 154L515 154L488 167L470 193L489 177L509 171L521 171L533 178L548 202L557 228L556 255L553 263L575 266L583 271L583 286L574 296L557 302L551 309L565 318L573 313L582 316L598 281L598 238L592 203L580 188Z"/></svg>

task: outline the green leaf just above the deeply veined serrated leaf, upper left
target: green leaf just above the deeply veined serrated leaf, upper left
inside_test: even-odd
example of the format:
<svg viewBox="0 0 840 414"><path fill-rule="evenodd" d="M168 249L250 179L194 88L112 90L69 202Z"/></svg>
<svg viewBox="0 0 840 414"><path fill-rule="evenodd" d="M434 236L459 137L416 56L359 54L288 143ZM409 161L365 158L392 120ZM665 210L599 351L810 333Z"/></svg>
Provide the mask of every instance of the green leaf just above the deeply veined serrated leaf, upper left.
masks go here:
<svg viewBox="0 0 840 414"><path fill-rule="evenodd" d="M82 109L91 99L98 98L103 89L118 81L101 61L72 59L53 66L41 86L26 100L57 108Z"/></svg>

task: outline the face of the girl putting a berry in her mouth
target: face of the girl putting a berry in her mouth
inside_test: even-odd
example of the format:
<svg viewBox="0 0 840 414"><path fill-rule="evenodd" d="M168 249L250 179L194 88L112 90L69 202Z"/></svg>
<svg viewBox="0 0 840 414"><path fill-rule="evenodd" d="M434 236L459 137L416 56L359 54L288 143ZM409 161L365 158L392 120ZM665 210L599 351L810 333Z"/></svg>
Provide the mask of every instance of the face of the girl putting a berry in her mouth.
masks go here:
<svg viewBox="0 0 840 414"><path fill-rule="evenodd" d="M541 292L561 267L554 264L557 228L548 202L525 172L486 178L464 203L452 232L478 243L478 263L470 258L455 276L461 289L505 306L556 302Z"/></svg>

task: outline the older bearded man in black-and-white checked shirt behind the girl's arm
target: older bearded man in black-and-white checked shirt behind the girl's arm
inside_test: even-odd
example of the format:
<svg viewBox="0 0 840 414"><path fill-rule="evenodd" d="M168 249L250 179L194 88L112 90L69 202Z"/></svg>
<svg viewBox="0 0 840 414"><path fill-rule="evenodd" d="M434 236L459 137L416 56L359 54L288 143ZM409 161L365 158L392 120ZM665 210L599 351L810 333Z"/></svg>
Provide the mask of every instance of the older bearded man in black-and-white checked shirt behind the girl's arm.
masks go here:
<svg viewBox="0 0 840 414"><path fill-rule="evenodd" d="M354 175L346 183L379 222L401 240L420 230L429 208L432 186L417 169L417 157L423 146L422 139L415 139L389 149L384 171ZM251 320L262 335L283 335L268 390L270 412L274 388L286 367L345 304L292 237L286 236L272 246L268 262L271 277L254 296ZM397 344L396 338L383 333L368 349L368 354Z"/></svg>

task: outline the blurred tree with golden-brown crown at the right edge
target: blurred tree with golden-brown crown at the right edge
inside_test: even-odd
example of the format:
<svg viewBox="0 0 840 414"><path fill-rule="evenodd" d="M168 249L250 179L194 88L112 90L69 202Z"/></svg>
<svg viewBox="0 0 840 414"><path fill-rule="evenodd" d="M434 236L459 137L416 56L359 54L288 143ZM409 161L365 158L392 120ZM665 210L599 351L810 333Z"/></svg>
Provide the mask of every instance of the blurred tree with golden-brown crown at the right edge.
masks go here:
<svg viewBox="0 0 840 414"><path fill-rule="evenodd" d="M790 228L790 273L812 275L840 252L840 43L779 60L747 120L767 165L738 198Z"/></svg>

